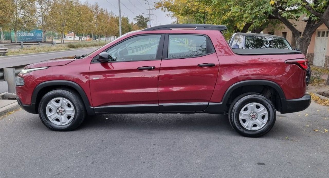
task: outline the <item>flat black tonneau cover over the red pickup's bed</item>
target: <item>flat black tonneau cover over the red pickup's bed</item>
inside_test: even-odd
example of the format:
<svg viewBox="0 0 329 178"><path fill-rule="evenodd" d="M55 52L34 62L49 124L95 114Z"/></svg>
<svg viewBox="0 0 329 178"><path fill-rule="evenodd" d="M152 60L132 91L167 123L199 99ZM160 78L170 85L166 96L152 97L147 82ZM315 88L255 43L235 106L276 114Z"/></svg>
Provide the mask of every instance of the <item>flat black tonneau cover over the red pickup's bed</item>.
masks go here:
<svg viewBox="0 0 329 178"><path fill-rule="evenodd" d="M301 51L291 49L232 49L235 54L239 55L269 55L269 54L301 54Z"/></svg>

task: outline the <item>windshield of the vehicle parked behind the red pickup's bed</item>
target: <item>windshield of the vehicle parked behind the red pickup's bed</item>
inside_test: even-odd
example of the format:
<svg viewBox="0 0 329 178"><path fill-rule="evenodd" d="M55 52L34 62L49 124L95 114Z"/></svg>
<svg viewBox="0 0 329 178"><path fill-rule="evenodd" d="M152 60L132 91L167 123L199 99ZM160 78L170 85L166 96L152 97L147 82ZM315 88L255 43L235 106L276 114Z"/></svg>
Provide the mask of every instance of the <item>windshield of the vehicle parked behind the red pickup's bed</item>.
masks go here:
<svg viewBox="0 0 329 178"><path fill-rule="evenodd" d="M289 42L284 38L267 36L247 36L245 38L246 49L292 49Z"/></svg>

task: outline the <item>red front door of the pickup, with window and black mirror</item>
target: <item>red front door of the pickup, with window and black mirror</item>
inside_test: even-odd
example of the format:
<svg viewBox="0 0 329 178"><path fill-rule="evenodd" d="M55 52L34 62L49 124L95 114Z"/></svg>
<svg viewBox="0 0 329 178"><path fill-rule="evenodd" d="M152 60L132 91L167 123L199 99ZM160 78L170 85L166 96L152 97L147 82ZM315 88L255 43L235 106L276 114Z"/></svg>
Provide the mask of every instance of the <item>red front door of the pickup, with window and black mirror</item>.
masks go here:
<svg viewBox="0 0 329 178"><path fill-rule="evenodd" d="M90 64L96 113L158 112L158 79L164 35L139 35L106 50L115 61ZM97 58L96 56L95 58Z"/></svg>

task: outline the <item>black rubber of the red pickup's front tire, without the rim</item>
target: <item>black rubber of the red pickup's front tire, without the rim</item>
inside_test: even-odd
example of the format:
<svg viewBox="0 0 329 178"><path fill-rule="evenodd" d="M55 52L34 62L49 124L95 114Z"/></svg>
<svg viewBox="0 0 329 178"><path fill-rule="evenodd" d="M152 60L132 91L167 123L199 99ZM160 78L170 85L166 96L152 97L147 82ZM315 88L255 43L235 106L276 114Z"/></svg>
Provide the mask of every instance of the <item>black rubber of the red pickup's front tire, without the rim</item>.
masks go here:
<svg viewBox="0 0 329 178"><path fill-rule="evenodd" d="M52 123L47 115L46 115L46 107L49 101L51 101L54 98L58 97L63 97L67 100L69 100L74 107L74 117L72 121L66 125L56 125ZM85 118L85 108L82 104L82 100L80 96L78 96L76 93L68 91L68 90L63 90L63 89L57 89L50 91L46 93L42 99L40 100L39 107L38 107L38 112L40 119L42 123L48 127L51 130L55 131L71 131L75 128L77 128L84 120Z"/></svg>

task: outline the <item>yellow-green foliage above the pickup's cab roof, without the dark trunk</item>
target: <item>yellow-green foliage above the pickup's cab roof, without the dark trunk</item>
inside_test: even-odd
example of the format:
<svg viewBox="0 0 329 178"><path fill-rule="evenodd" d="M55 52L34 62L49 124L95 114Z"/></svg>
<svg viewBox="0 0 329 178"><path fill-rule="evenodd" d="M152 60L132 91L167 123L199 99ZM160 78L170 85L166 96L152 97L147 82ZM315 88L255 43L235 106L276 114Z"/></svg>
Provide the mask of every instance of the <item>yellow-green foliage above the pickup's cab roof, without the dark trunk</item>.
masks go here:
<svg viewBox="0 0 329 178"><path fill-rule="evenodd" d="M260 1L260 0L257 0ZM261 0L262 1L262 0ZM175 23L223 24L233 32L260 32L269 23L263 11L254 11L248 0L161 0L155 7L171 12ZM254 5L257 6L257 5Z"/></svg>

